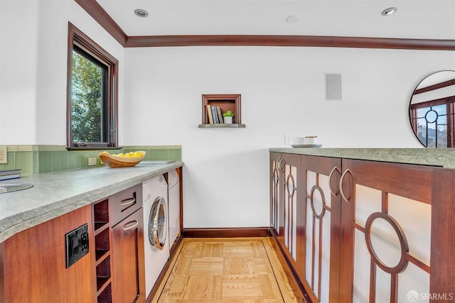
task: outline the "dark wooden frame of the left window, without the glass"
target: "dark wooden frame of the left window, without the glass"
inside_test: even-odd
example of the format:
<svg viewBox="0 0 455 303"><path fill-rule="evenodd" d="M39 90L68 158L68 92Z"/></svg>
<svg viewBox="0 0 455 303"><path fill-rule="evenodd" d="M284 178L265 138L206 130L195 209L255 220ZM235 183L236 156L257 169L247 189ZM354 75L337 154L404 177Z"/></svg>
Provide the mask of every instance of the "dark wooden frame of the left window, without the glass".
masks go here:
<svg viewBox="0 0 455 303"><path fill-rule="evenodd" d="M107 142L85 143L82 145L73 142L72 130L72 74L73 74L73 50L78 48L84 53L90 55L98 62L107 67L107 104L105 113L107 114L104 121L107 127ZM68 73L67 73L67 136L66 144L68 150L97 150L100 148L117 148L118 147L118 64L119 61L107 53L100 45L90 39L85 33L82 33L72 23L68 23Z"/></svg>

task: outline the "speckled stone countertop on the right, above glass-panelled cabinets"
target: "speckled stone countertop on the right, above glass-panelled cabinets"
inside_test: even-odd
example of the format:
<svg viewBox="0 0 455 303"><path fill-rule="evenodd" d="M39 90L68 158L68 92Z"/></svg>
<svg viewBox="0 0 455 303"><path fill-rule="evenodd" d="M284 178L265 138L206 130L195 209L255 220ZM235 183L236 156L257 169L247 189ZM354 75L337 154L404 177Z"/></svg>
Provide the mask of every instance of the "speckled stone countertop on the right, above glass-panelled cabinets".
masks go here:
<svg viewBox="0 0 455 303"><path fill-rule="evenodd" d="M455 168L455 148L270 148L269 151Z"/></svg>

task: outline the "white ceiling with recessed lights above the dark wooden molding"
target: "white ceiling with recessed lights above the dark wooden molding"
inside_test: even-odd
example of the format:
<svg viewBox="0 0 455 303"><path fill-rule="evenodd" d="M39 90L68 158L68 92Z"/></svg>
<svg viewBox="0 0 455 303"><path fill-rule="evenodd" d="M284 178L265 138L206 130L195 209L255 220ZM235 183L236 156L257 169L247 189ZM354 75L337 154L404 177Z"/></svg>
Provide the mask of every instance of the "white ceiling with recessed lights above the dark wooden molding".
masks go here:
<svg viewBox="0 0 455 303"><path fill-rule="evenodd" d="M455 39L454 0L96 0L127 36ZM391 6L397 12L382 16ZM135 9L149 13L146 18ZM287 23L289 16L297 21Z"/></svg>

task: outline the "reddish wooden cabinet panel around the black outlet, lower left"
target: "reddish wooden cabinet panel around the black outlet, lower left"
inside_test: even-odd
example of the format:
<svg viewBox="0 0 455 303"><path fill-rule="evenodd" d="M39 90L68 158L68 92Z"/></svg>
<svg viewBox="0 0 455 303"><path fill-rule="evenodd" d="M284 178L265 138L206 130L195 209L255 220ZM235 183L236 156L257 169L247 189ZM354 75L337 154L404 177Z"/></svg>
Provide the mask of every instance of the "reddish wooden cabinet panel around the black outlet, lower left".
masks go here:
<svg viewBox="0 0 455 303"><path fill-rule="evenodd" d="M0 243L0 302L96 302L95 249L69 268L65 234L88 224L90 205L21 231Z"/></svg>

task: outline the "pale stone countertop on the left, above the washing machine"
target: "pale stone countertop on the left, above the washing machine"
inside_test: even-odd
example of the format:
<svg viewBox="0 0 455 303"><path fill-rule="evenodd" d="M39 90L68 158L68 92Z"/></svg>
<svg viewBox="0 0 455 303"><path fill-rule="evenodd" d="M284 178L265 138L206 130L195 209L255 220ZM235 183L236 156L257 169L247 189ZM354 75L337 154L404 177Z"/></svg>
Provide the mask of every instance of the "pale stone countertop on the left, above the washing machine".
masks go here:
<svg viewBox="0 0 455 303"><path fill-rule="evenodd" d="M134 167L102 166L0 181L0 187L2 184L33 184L30 189L0 194L0 243L27 228L183 166L181 161L143 162Z"/></svg>

